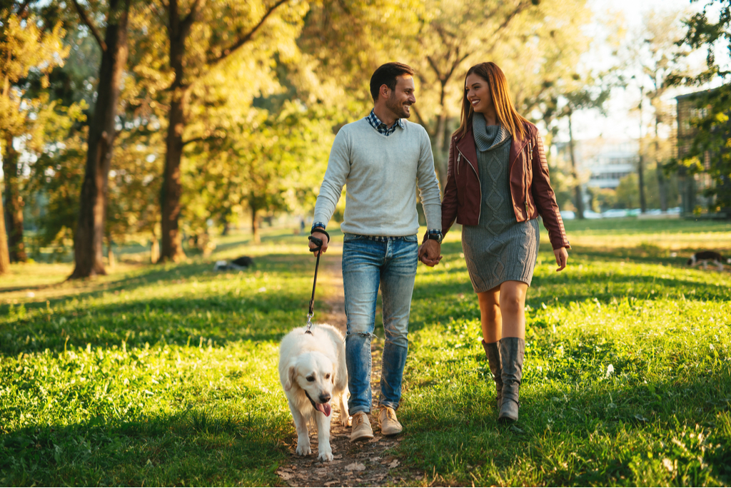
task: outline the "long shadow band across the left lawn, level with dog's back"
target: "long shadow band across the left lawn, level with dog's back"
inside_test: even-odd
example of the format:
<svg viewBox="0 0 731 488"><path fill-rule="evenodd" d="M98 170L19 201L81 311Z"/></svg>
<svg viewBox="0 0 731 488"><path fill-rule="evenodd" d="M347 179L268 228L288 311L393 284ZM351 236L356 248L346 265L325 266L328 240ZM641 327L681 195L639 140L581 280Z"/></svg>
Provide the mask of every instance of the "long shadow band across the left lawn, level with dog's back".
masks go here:
<svg viewBox="0 0 731 488"><path fill-rule="evenodd" d="M16 319L0 343L0 354L13 356L49 349L128 347L159 343L216 346L240 340L277 341L305 320L308 297L276 293L265 296L224 296L152 299L98 305L90 310Z"/></svg>

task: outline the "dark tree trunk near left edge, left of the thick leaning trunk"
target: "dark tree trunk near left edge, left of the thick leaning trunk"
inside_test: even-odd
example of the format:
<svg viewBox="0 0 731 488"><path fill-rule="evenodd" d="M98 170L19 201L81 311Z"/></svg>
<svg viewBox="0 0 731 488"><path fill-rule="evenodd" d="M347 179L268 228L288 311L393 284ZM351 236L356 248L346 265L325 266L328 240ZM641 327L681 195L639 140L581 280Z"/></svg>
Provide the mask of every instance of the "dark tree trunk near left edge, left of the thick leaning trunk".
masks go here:
<svg viewBox="0 0 731 488"><path fill-rule="evenodd" d="M12 147L12 135L7 134L2 158L2 169L5 178L5 208L7 225L7 245L11 262L26 262L26 246L23 242L23 197L18 186L18 151Z"/></svg>

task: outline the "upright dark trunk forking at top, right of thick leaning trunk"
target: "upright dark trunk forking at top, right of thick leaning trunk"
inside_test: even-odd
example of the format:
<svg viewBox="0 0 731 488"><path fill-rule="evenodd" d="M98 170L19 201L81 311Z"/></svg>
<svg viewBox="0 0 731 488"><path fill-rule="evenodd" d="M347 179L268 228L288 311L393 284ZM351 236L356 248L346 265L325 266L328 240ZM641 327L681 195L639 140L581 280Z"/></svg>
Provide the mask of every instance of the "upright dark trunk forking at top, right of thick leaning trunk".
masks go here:
<svg viewBox="0 0 731 488"><path fill-rule="evenodd" d="M183 58L186 53L186 37L194 21L195 12L181 20L178 0L168 4L167 37L170 42L170 67L175 72L170 87L170 112L168 113L167 137L165 138L165 171L162 181L162 249L160 262L180 262L185 258L178 218L181 213L181 159L183 159L183 129L185 129L185 105L189 86L184 83Z"/></svg>

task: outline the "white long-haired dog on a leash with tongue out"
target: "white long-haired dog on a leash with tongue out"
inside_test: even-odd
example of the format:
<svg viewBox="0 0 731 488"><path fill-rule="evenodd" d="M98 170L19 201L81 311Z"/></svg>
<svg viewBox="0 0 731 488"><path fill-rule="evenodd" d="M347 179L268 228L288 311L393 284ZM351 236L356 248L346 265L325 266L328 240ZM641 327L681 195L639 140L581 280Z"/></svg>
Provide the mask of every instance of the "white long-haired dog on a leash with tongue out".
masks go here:
<svg viewBox="0 0 731 488"><path fill-rule="evenodd" d="M345 341L327 324L313 325L311 334L298 327L279 346L279 380L287 394L297 428L297 454L311 453L308 422L317 424L319 460L332 461L330 400L338 400L340 420L348 424L348 370Z"/></svg>

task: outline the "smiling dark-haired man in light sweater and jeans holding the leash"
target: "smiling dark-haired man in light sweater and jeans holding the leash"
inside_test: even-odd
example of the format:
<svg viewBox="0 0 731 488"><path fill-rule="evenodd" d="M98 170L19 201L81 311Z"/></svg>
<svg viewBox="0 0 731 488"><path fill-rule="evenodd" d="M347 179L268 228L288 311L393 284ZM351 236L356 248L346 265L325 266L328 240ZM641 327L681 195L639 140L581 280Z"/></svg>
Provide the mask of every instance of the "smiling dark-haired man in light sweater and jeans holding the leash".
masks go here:
<svg viewBox="0 0 731 488"><path fill-rule="evenodd" d="M395 435L402 430L395 411L401 400L417 254L430 266L441 257L442 213L431 142L422 126L405 120L416 102L413 76L401 63L376 69L371 77L374 108L368 117L338 131L315 205L311 234L322 240L324 253L330 240L325 226L346 185L341 230L351 441L373 438L368 413L379 286L386 337L378 420L384 435ZM417 181L429 229L421 249Z"/></svg>

